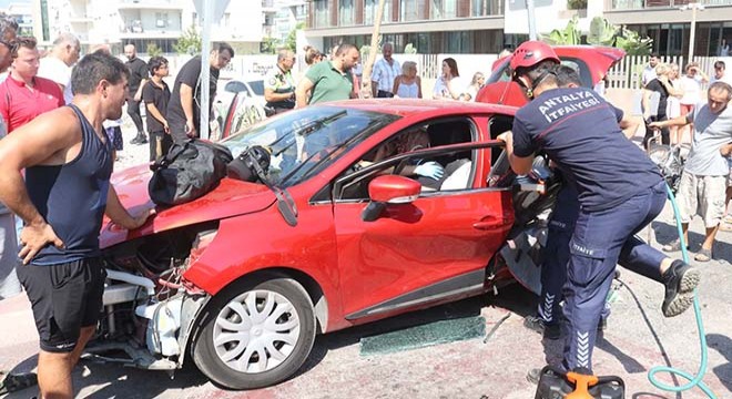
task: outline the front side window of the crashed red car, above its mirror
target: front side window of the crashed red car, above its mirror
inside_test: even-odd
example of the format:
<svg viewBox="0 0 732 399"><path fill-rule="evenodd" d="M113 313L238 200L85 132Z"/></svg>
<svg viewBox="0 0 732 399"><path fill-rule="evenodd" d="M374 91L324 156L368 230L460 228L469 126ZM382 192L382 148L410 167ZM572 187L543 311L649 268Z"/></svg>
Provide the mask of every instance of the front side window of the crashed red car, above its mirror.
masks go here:
<svg viewBox="0 0 732 399"><path fill-rule="evenodd" d="M421 183L423 193L465 190L474 175L475 154L470 150L424 150L475 141L476 130L468 119L453 119L405 129L368 151L342 173L336 201L367 201L368 183L383 174L398 174ZM409 155L418 152L419 155ZM398 160L398 161L395 161ZM365 171L364 173L359 173ZM346 178L356 174L353 178Z"/></svg>

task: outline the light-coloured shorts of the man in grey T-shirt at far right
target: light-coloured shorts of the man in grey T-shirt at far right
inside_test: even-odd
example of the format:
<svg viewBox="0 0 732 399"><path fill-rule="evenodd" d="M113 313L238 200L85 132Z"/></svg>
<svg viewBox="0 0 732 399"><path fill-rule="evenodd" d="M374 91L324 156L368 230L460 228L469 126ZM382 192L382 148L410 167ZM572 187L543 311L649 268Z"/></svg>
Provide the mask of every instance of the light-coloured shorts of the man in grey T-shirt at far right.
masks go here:
<svg viewBox="0 0 732 399"><path fill-rule="evenodd" d="M694 215L704 219L704 227L713 228L724 215L726 176L699 176L683 172L679 182L677 203L682 223L690 223Z"/></svg>

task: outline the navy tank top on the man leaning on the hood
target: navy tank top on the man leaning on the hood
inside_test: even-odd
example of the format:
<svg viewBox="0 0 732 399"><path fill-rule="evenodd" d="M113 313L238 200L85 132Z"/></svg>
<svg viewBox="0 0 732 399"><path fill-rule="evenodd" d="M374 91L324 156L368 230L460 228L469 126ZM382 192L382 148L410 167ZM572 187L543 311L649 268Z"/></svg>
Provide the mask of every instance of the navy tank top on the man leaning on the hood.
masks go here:
<svg viewBox="0 0 732 399"><path fill-rule="evenodd" d="M31 202L65 246L62 249L45 246L31 260L33 265L55 265L100 253L99 231L112 174L112 145L110 140L101 141L75 105L69 106L81 121L79 155L63 165L26 170Z"/></svg>

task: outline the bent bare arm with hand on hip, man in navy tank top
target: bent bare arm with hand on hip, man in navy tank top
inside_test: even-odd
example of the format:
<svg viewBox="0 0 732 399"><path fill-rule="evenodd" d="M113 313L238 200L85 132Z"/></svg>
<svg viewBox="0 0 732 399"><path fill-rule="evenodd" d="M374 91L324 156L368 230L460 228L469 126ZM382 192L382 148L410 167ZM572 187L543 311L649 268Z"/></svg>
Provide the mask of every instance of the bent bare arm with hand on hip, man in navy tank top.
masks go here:
<svg viewBox="0 0 732 399"><path fill-rule="evenodd" d="M63 242L30 201L21 171L33 165L68 162L72 147L81 151L79 120L63 108L39 115L0 140L0 202L26 222L20 234L18 256L28 264L47 245L63 247Z"/></svg>

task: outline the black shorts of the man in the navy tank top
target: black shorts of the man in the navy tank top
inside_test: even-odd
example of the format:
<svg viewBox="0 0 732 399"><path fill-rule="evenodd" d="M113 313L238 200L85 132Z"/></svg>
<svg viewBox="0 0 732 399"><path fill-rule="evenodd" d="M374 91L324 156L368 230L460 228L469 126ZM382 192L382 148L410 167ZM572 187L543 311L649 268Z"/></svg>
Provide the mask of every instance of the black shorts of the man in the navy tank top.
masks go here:
<svg viewBox="0 0 732 399"><path fill-rule="evenodd" d="M17 269L33 307L41 349L72 351L81 328L99 321L106 278L101 258L50 266L18 265Z"/></svg>

